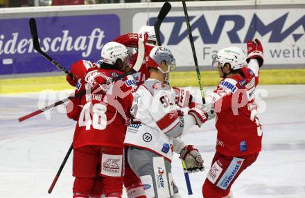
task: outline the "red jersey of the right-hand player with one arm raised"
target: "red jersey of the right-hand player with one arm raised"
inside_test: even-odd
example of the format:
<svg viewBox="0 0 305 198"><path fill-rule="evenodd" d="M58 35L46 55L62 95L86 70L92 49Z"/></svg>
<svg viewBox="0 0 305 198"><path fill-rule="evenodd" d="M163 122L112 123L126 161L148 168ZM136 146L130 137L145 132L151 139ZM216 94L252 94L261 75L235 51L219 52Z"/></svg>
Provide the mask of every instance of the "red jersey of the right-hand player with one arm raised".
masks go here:
<svg viewBox="0 0 305 198"><path fill-rule="evenodd" d="M216 150L223 155L243 156L261 150L262 125L257 114L255 88L259 83L250 68L242 68L240 75L223 79L207 103L214 103L216 111Z"/></svg>

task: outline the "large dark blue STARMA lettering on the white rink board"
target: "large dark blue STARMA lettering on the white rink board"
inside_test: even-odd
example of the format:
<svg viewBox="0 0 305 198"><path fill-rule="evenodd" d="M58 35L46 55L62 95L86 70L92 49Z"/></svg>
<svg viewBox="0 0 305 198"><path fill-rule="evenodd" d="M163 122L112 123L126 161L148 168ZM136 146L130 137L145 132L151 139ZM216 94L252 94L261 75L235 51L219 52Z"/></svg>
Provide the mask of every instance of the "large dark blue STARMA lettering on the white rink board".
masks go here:
<svg viewBox="0 0 305 198"><path fill-rule="evenodd" d="M227 23L233 23L233 28L227 32L227 37L231 43L246 43L249 40L253 40L255 35L261 35L262 37L270 34L270 43L281 43L287 37L292 35L295 42L297 42L304 34L294 33L298 28L305 26L305 15L296 19L296 21L290 23L286 22L288 19L289 12L279 16L274 21L264 21L268 18L259 17L256 13L252 15L250 25L245 26L245 17L239 14L226 14L219 15L216 26L214 23L209 23L209 19L202 14L201 16L189 16L191 21L191 30L199 31L200 38L205 44L217 44L219 43L220 36L223 33L223 29L227 26ZM196 18L196 19L195 19ZM195 21L193 20L195 19ZM181 30L184 23L184 16L179 17L166 17L162 23L174 23L173 30L168 39L168 43L164 43L164 35L161 34L161 41L165 46L167 45L178 45L181 41L189 37L188 30ZM149 19L149 23L153 24L155 17ZM212 29L212 27L215 27ZM286 28L287 27L287 28ZM244 38L241 38L238 31L243 28L247 28L247 34ZM177 32L181 32L177 34ZM199 37L193 37L195 41Z"/></svg>

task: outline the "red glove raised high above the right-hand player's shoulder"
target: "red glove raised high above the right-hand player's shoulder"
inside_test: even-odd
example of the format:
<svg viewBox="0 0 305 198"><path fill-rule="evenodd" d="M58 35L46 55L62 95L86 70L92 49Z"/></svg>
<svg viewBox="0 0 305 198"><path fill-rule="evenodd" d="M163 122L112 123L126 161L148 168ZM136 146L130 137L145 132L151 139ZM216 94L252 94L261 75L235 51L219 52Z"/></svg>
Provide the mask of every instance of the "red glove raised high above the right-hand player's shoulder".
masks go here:
<svg viewBox="0 0 305 198"><path fill-rule="evenodd" d="M256 59L259 62L259 67L263 66L263 46L259 39L247 41L247 63L250 59Z"/></svg>

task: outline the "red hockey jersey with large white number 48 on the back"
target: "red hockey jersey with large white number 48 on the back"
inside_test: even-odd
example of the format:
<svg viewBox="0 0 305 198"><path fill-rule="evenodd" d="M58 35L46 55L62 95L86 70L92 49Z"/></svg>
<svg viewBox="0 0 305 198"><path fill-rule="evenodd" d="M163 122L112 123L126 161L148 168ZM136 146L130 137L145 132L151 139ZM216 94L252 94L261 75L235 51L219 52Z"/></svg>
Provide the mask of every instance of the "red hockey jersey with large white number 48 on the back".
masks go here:
<svg viewBox="0 0 305 198"><path fill-rule="evenodd" d="M98 69L98 72L107 77L122 74L118 70ZM83 95L68 103L68 117L77 120L73 148L87 145L124 147L125 119L132 104L134 83L128 77L114 84L103 85L102 91ZM81 79L75 94L85 86L85 81Z"/></svg>

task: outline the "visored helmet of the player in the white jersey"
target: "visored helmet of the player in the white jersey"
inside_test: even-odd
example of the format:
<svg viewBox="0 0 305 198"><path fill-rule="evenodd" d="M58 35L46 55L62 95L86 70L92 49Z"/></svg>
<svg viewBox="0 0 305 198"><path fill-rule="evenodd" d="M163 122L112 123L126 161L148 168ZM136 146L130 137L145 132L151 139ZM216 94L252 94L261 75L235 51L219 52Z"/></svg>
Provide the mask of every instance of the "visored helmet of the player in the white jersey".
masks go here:
<svg viewBox="0 0 305 198"><path fill-rule="evenodd" d="M161 66L161 62L166 61L166 65L168 66L168 70L164 71ZM174 56L168 48L164 48L162 46L154 47L149 55L145 57L145 63L147 68L155 68L160 70L162 73L167 74L171 70L175 70L176 62Z"/></svg>

